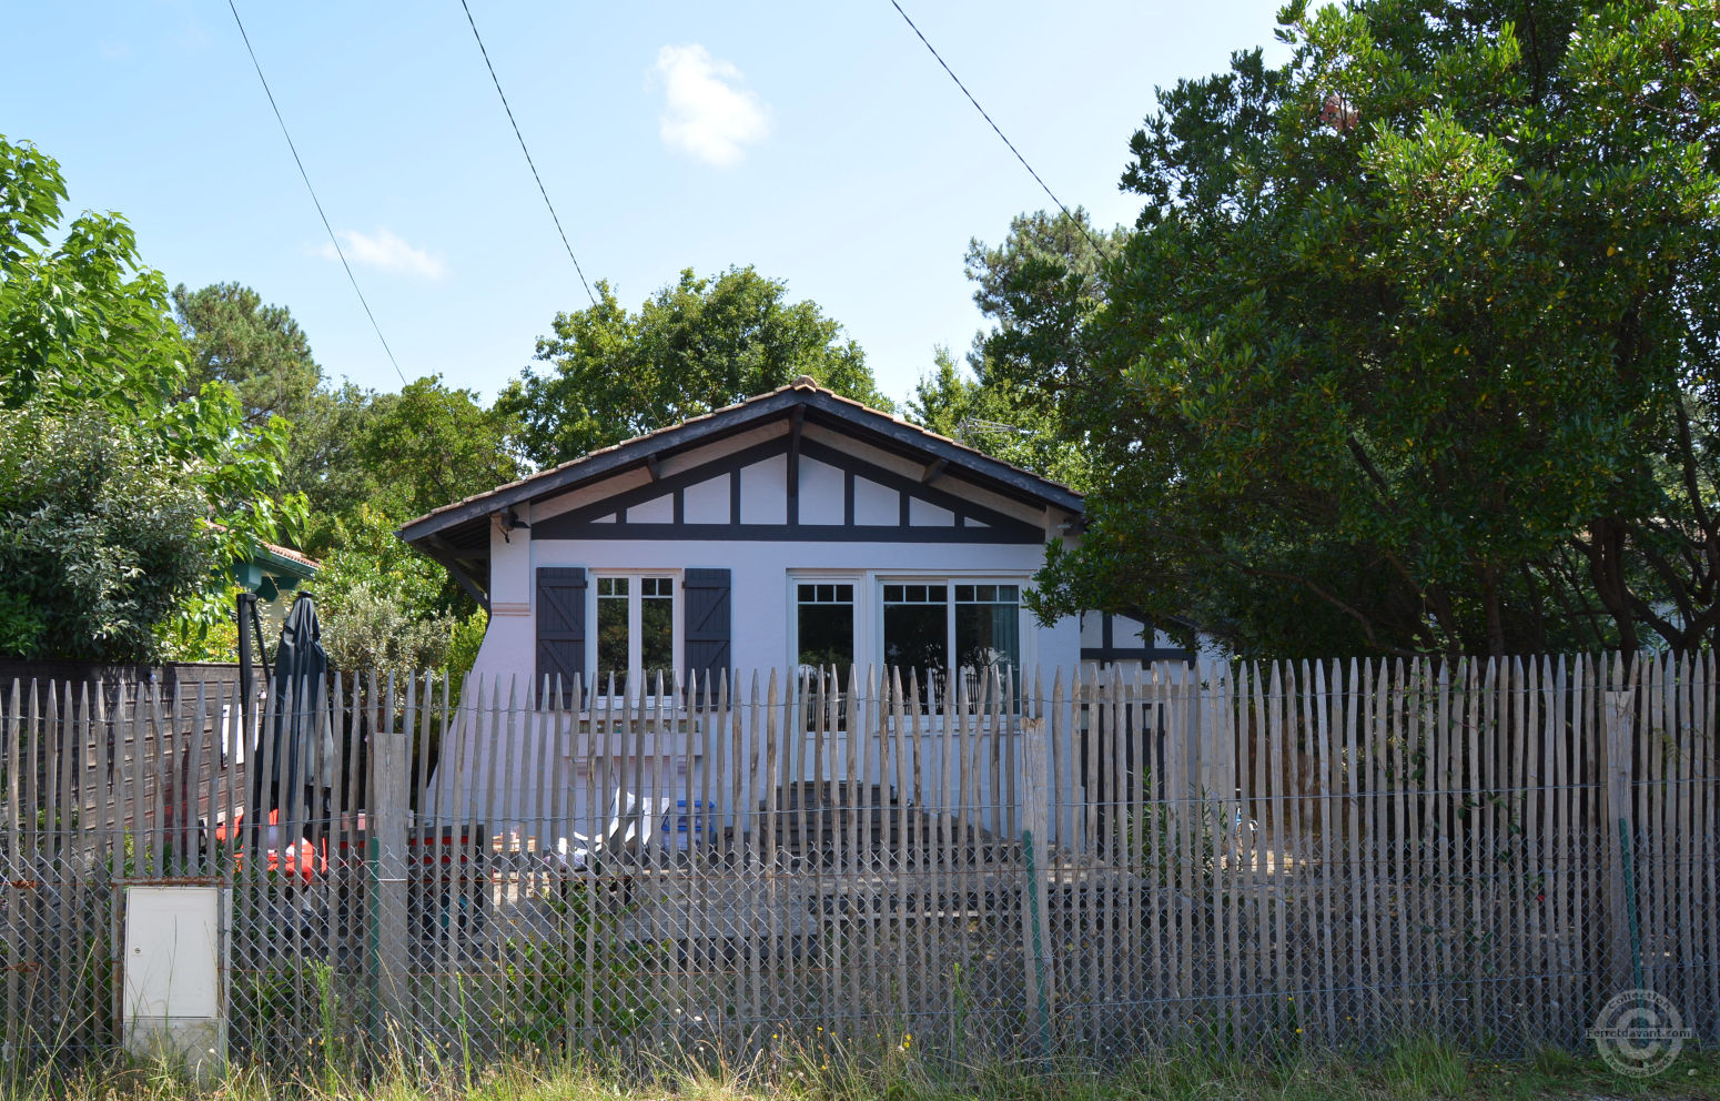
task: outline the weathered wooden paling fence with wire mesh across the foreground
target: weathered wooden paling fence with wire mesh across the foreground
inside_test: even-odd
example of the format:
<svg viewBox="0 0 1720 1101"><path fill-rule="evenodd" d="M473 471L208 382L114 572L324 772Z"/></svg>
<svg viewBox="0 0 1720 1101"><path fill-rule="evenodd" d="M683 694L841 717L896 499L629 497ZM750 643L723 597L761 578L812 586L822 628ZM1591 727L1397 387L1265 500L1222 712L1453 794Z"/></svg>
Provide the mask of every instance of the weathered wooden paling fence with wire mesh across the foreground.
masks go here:
<svg viewBox="0 0 1720 1101"><path fill-rule="evenodd" d="M3 1058L122 1039L132 884L268 1061L1720 1024L1711 655L605 688L14 683Z"/></svg>

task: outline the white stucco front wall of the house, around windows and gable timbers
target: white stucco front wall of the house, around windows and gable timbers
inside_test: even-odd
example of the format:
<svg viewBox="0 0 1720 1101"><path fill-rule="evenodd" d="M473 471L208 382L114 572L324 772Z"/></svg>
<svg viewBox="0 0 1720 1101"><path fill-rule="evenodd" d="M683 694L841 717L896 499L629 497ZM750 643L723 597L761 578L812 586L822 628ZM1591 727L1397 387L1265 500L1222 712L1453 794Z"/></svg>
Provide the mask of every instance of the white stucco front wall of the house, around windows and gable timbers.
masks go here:
<svg viewBox="0 0 1720 1101"><path fill-rule="evenodd" d="M740 444L757 444L771 439L772 432L760 430L757 439L746 437ZM808 439L817 434L808 427ZM839 437L831 437L832 446ZM738 444L731 444L738 446ZM492 829L521 829L544 836L547 822L559 819L573 822L574 829L590 831L600 827L607 817L614 791L626 790L654 798L685 798L688 784L700 791L709 786L722 793L714 802L721 809L721 819L733 824L736 810L755 805L762 800L762 791L755 790L759 778L746 772L745 766L728 757L719 764L707 762L709 741L702 731L686 731L685 724L676 735L669 735L662 743L647 747L643 757L605 753L602 740L571 736L569 731L580 723L578 716L552 710L533 710L531 680L537 669L537 630L535 630L535 576L545 566L580 566L588 576L600 575L671 575L676 578L676 661L685 659L683 607L679 604L679 578L688 568L724 568L729 571L729 638L731 666L741 671L743 683L750 681L757 671L760 681L767 681L772 669L791 674L796 659L795 619L796 600L795 585L798 581L843 581L855 585L855 654L862 666L862 676L869 664L882 662L882 587L891 581L936 581L936 583L1004 583L1022 590L1032 587L1034 573L1044 563L1042 542L960 542L956 514L946 506L974 504L991 509L986 513L996 523L1025 523L1025 538L1035 533L1044 538L1065 537L1061 516L1051 516L1044 509L1027 506L1020 501L1003 499L989 490L970 487L960 478L929 475L924 466L901 459L900 456L870 454L860 458L877 459L879 468L888 468L898 478L912 478L906 489L894 489L855 477L853 525L874 526L872 533L882 538L855 538L855 528L839 528L848 523L846 516L846 475L843 470L819 463L803 456L798 463L798 513L802 526L831 526L832 535L843 533L846 538L800 540L800 538L676 538L666 537L669 528L659 528L650 538L550 538L538 535L547 526L544 521L559 518L573 509L602 513L602 502L617 492L645 490L650 487L648 477L640 471L617 475L607 487L583 487L562 497L521 507L519 518L528 521L537 532L516 528L504 535L499 523L490 532L490 626L475 664L475 688L466 698L463 716L466 726L454 745L464 745L458 759L444 760L437 772L439 802L444 807L459 807L464 817L483 817L492 822ZM721 458L719 449L710 456ZM698 478L698 463L673 459L662 463L659 477L676 477L686 471L685 478ZM786 458L777 454L759 463L752 463L733 478L740 489L740 513L743 525L784 525L791 509L786 494ZM937 501L918 497L915 489L924 478L936 478ZM879 528L894 530L903 518L903 499L906 494L908 523L913 540L889 538ZM955 501L951 501L955 499ZM693 480L681 489L681 520L686 525L729 525L734 502L731 499L731 478L728 473L707 480ZM588 513L580 513L588 514ZM652 497L628 504L624 507L626 523L669 525L674 520L673 497ZM557 521L564 523L564 521ZM592 514L590 523L614 523L612 516ZM965 523L972 528L984 528L974 518ZM948 532L949 542L943 537L927 538L927 533ZM619 532L617 532L619 533ZM588 623L593 616L595 583L587 590ZM1039 626L1032 614L1020 611L1020 664L1029 680L1035 673L1044 676L1044 690L1049 692L1051 680L1058 669L1073 669L1080 662L1080 623L1070 616L1049 626ZM590 631L588 631L590 635ZM590 647L588 647L590 654ZM587 662L590 669L590 661ZM488 705L497 697L494 686L502 685L501 710ZM507 700L516 702L513 714L507 714ZM588 716L587 716L588 717ZM564 735L556 736L556 724L561 723ZM939 738L932 726L924 729L927 738ZM996 766L992 755L979 753L968 766L968 778L975 790L1011 786L1015 774L1008 774L1013 762L1010 748L1013 735L1004 738L998 748ZM841 779L845 771L841 760L846 755L846 736L834 736L836 752L824 769L826 779ZM879 767L877 762L872 766ZM941 766L937 766L941 769ZM884 767L891 774L893 766ZM992 776L992 771L998 774ZM810 779L810 764L795 769L802 779ZM877 772L872 772L875 778ZM943 784L943 774L937 784ZM691 779L688 779L691 778ZM956 778L951 778L955 783ZM734 797L734 784L741 784L741 795ZM875 783L875 779L874 779ZM752 786L750 786L752 784ZM989 821L989 819L986 819ZM537 822L537 826L533 826ZM559 829L559 827L557 827ZM552 845L554 840L550 838Z"/></svg>

